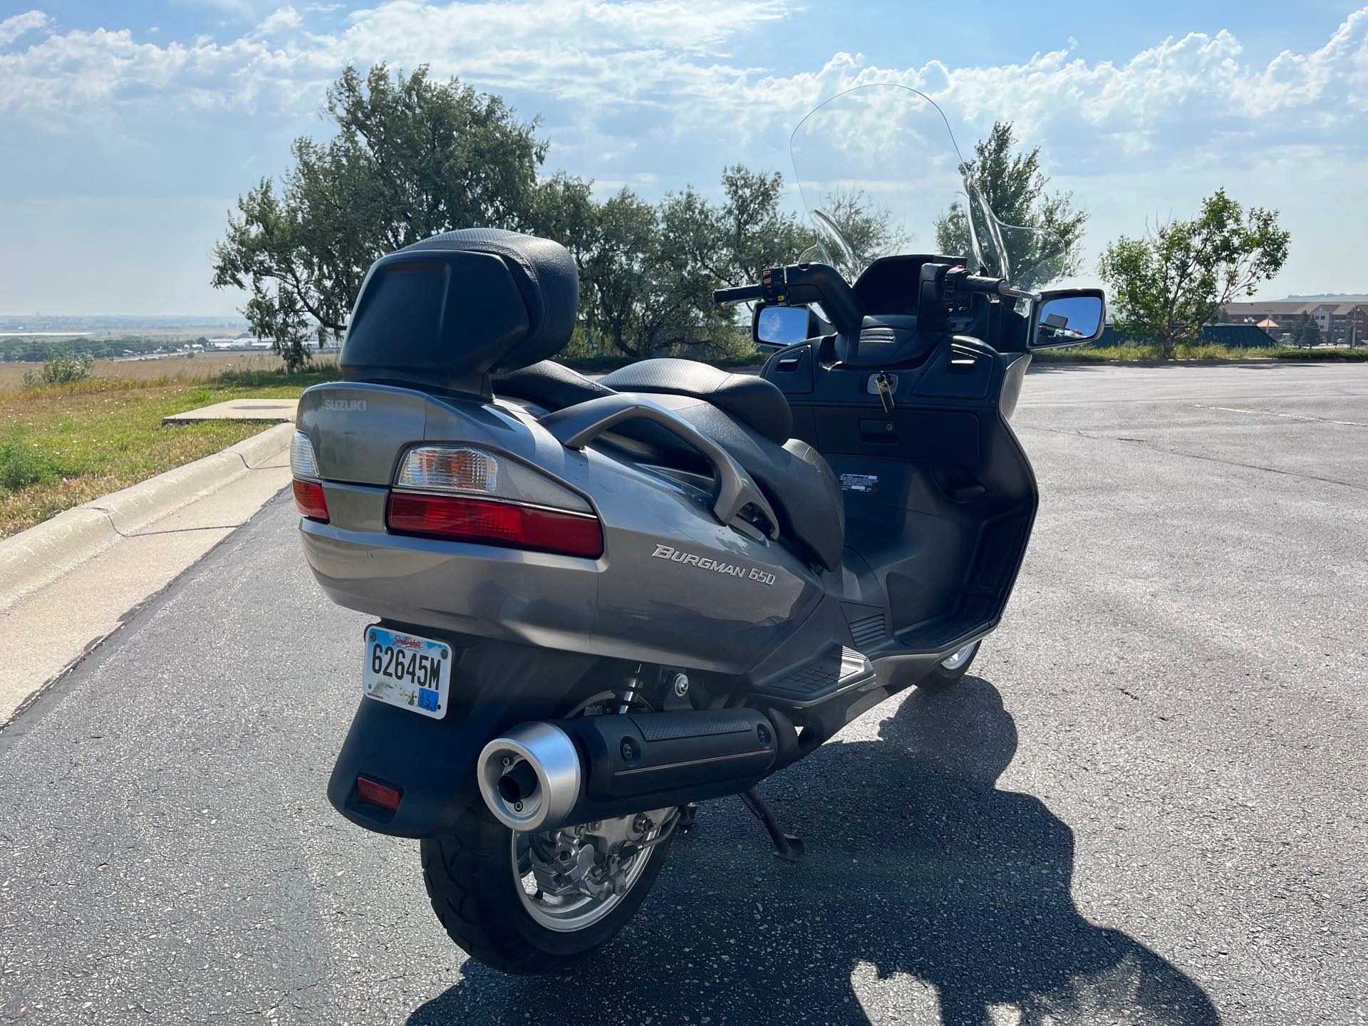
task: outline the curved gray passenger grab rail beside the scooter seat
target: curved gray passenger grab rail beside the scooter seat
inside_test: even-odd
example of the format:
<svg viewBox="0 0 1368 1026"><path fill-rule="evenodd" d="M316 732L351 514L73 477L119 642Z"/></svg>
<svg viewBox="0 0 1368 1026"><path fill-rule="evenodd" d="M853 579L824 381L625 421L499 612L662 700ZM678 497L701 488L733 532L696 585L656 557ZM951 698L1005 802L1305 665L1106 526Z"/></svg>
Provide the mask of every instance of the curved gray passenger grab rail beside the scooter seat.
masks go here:
<svg viewBox="0 0 1368 1026"><path fill-rule="evenodd" d="M778 517L774 516L774 510L761 494L755 482L732 458L731 453L658 402L625 393L601 395L596 399L588 399L587 402L579 402L573 406L558 409L554 413L547 413L539 423L555 435L566 449L584 449L584 446L601 434L621 424L624 420L648 420L659 424L684 439L713 464L713 469L717 472L713 516L720 523L735 527L733 521L737 520L740 512L747 506L755 506L769 521L765 534L769 538L778 538ZM741 523L744 524L746 521Z"/></svg>

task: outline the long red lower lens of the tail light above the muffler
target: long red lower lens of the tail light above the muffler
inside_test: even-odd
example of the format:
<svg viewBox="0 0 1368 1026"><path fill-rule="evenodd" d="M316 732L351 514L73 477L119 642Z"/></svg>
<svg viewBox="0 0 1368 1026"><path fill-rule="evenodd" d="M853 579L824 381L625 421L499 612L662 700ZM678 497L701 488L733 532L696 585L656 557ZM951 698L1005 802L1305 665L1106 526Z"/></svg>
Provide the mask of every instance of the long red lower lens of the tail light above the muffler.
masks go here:
<svg viewBox="0 0 1368 1026"><path fill-rule="evenodd" d="M596 517L464 495L391 492L389 523L390 531L405 535L458 538L561 555L603 554L603 531Z"/></svg>

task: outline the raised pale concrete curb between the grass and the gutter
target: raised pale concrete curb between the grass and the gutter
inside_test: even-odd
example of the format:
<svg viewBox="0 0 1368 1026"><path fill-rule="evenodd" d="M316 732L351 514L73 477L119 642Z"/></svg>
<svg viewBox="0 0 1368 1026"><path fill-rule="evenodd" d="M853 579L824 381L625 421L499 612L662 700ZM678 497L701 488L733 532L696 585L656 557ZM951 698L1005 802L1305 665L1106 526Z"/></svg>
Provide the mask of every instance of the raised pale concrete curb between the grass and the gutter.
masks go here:
<svg viewBox="0 0 1368 1026"><path fill-rule="evenodd" d="M231 484L289 449L293 424L278 424L220 453L68 509L0 542L0 609L51 584L119 538Z"/></svg>

